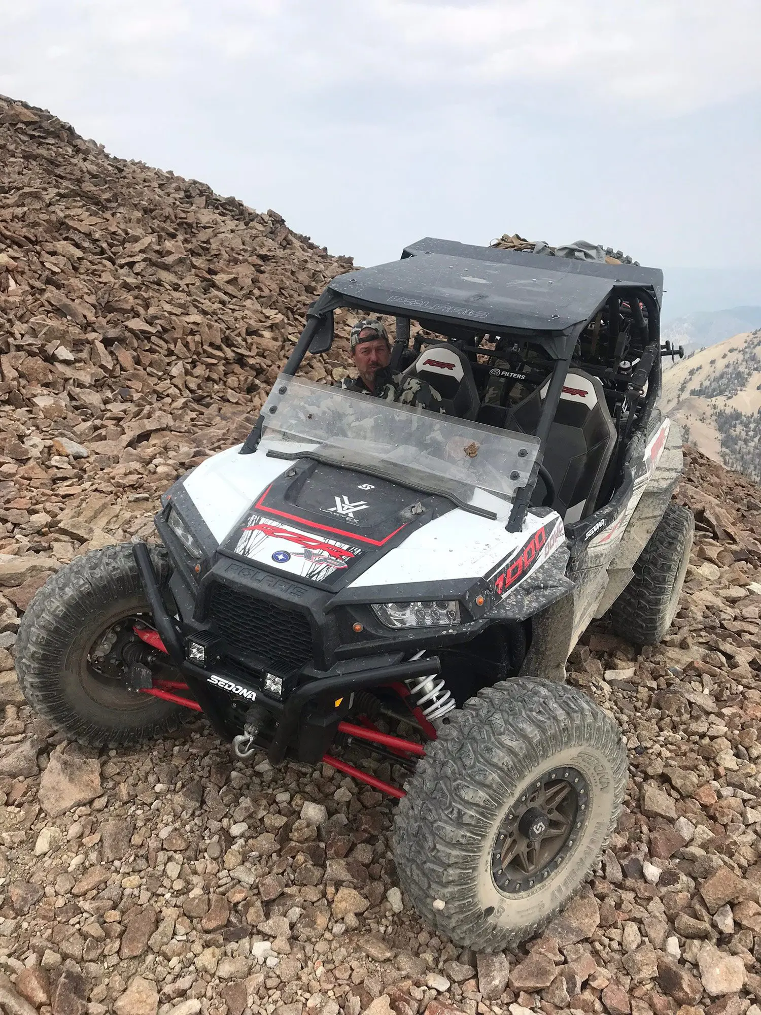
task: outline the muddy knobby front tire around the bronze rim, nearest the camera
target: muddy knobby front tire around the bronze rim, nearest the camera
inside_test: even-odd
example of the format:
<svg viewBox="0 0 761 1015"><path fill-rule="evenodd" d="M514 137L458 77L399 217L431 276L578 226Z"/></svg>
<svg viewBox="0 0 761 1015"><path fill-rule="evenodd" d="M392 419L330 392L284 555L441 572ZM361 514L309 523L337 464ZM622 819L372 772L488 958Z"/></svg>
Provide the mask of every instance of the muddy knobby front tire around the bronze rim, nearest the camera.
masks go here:
<svg viewBox="0 0 761 1015"><path fill-rule="evenodd" d="M580 691L528 679L480 691L426 747L400 801L394 858L402 887L459 945L501 951L533 937L597 865L618 820L626 767L618 727ZM549 776L583 787L570 838L533 887L527 879L521 890L503 890L494 873L499 835Z"/></svg>

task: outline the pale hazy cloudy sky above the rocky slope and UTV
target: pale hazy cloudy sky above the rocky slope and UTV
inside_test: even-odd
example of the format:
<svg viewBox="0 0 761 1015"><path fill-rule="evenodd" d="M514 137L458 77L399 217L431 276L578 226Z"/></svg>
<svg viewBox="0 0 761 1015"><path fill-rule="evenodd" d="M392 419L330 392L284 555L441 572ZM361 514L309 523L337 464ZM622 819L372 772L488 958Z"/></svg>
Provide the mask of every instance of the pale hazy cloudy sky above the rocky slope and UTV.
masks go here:
<svg viewBox="0 0 761 1015"><path fill-rule="evenodd" d="M715 277L761 302L759 0L0 0L0 92L358 263L518 231L742 267Z"/></svg>

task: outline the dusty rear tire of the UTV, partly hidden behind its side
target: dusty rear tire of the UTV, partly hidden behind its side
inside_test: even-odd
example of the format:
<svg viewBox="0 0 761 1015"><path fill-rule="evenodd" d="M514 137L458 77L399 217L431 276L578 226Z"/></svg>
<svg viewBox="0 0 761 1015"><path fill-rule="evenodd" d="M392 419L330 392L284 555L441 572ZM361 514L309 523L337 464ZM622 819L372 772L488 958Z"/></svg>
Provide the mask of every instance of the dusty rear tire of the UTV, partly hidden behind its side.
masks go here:
<svg viewBox="0 0 761 1015"><path fill-rule="evenodd" d="M679 609L695 519L671 501L639 554L629 582L610 610L613 628L636 645L656 645Z"/></svg>

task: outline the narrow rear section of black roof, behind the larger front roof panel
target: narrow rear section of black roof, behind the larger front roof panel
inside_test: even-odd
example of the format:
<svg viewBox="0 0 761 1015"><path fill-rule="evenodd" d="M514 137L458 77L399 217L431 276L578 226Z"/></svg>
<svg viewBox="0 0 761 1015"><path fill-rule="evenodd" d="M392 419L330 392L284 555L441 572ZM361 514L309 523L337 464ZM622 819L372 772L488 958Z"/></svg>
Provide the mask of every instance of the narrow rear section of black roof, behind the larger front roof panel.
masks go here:
<svg viewBox="0 0 761 1015"><path fill-rule="evenodd" d="M405 247L402 258L421 254L444 254L471 258L474 261L492 261L495 264L527 265L545 271L562 272L572 275L594 275L607 278L622 285L641 285L652 289L659 301L663 300L664 273L660 268L642 268L633 264L603 264L600 261L577 261L573 258L550 257L547 254L528 254L521 251L502 250L500 247L474 247L460 244L455 240L437 240L425 236L417 243Z"/></svg>

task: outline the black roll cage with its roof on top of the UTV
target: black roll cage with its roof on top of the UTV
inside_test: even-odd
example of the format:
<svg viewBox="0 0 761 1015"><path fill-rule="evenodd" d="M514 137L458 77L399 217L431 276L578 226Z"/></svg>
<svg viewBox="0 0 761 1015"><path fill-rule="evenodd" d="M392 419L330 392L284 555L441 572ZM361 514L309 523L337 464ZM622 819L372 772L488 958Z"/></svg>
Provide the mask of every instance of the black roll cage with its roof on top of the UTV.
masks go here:
<svg viewBox="0 0 761 1015"><path fill-rule="evenodd" d="M334 278L306 312L306 325L283 369L294 375L305 353L328 352L334 312L348 308L396 319L392 364L404 369L424 347L454 345L468 357L480 394L495 373L543 386L534 429L537 463L518 488L508 522L520 531L543 470L543 454L568 371L582 368L602 386L616 427L615 449L598 496L599 509L566 529L596 525L628 487L627 462L636 432L644 433L661 393L663 272L426 238L399 261ZM420 331L411 344L411 323ZM680 350L681 352L681 350ZM567 390L567 389L566 389ZM478 416L476 417L478 421ZM486 420L484 420L486 421ZM489 420L493 422L492 418ZM502 425L509 426L505 413ZM258 421L241 448L256 450Z"/></svg>

